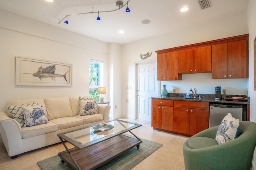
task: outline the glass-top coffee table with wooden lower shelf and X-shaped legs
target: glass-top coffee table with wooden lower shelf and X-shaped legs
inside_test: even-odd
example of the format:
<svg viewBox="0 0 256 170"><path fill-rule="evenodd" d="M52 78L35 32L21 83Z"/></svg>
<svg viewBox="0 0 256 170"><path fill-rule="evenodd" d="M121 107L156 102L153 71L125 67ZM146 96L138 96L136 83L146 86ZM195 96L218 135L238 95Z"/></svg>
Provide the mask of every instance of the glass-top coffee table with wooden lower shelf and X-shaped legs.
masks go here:
<svg viewBox="0 0 256 170"><path fill-rule="evenodd" d="M142 125L114 119L59 133L58 137L66 150L59 152L58 156L61 162L67 162L74 169L95 169L133 147L139 149L142 140L131 130L140 126ZM126 132L130 132L133 136L123 134ZM74 148L68 149L64 141L72 144Z"/></svg>

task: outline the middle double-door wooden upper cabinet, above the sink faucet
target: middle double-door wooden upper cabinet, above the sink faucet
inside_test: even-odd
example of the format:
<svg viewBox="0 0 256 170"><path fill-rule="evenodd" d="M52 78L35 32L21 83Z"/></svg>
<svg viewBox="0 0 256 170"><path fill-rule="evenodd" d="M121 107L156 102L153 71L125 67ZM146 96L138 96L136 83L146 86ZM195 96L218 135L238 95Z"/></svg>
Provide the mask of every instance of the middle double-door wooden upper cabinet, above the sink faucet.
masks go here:
<svg viewBox="0 0 256 170"><path fill-rule="evenodd" d="M178 73L203 73L212 71L211 46L178 51Z"/></svg>

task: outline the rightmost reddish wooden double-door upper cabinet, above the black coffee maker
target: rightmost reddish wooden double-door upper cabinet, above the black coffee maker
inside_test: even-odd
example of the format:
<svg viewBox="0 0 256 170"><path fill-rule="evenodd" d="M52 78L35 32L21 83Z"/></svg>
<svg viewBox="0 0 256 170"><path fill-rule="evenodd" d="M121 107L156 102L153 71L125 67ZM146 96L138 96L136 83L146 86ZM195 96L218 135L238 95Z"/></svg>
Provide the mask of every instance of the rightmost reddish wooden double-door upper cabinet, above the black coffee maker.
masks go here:
<svg viewBox="0 0 256 170"><path fill-rule="evenodd" d="M212 78L247 78L247 41L212 45Z"/></svg>

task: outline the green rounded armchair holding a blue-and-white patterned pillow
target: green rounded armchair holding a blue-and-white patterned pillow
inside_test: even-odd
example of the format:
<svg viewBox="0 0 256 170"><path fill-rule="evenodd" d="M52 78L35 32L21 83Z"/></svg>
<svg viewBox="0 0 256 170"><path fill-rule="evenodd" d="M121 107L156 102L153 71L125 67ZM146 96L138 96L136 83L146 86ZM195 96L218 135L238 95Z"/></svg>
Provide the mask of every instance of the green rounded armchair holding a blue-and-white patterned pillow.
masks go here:
<svg viewBox="0 0 256 170"><path fill-rule="evenodd" d="M186 170L250 170L256 146L256 123L240 121L240 137L218 145L218 126L193 135L183 145Z"/></svg>

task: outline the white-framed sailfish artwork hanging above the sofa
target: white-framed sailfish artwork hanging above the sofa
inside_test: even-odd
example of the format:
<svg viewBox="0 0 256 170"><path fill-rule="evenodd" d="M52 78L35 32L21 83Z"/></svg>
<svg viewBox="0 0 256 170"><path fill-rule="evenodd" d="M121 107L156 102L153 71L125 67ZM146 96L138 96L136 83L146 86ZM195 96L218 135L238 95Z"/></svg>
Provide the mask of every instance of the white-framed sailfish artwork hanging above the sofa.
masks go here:
<svg viewBox="0 0 256 170"><path fill-rule="evenodd" d="M72 86L72 64L15 57L15 85Z"/></svg>

